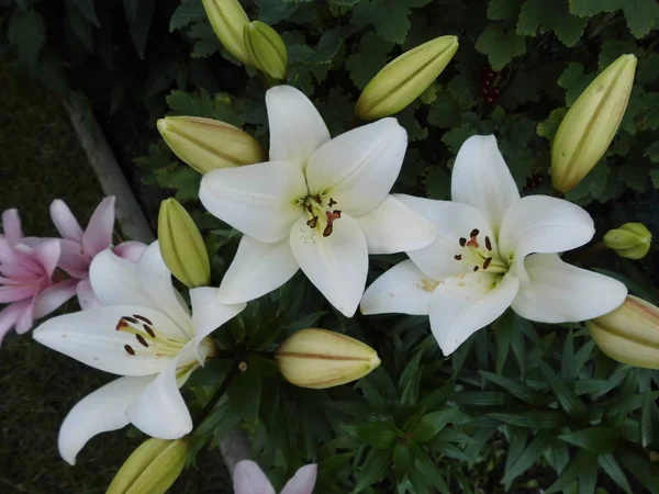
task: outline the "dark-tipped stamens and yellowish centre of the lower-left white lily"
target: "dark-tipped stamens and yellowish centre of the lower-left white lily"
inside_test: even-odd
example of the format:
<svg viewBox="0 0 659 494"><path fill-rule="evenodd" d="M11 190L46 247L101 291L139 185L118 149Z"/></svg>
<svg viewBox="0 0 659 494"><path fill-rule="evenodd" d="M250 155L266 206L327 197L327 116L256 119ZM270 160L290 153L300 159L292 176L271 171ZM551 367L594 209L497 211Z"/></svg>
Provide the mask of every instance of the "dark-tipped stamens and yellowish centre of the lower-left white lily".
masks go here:
<svg viewBox="0 0 659 494"><path fill-rule="evenodd" d="M124 345L124 350L129 355L156 353L158 357L174 357L181 351L187 343L158 332L149 319L139 314L122 316L116 323L115 329L135 336L137 345Z"/></svg>

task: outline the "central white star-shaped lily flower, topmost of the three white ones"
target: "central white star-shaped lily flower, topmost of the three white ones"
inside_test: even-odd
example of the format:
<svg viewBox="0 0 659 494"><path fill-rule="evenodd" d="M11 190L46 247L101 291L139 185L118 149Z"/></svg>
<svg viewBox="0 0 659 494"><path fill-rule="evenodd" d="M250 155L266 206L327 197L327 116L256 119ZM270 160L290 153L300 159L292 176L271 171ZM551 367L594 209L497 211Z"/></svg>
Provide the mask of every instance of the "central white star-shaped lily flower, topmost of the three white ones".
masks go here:
<svg viewBox="0 0 659 494"><path fill-rule="evenodd" d="M290 86L266 93L270 161L203 176L199 199L245 235L220 287L224 303L248 302L302 269L344 315L355 314L368 254L429 245L433 225L389 191L407 134L394 119L330 132L313 103Z"/></svg>

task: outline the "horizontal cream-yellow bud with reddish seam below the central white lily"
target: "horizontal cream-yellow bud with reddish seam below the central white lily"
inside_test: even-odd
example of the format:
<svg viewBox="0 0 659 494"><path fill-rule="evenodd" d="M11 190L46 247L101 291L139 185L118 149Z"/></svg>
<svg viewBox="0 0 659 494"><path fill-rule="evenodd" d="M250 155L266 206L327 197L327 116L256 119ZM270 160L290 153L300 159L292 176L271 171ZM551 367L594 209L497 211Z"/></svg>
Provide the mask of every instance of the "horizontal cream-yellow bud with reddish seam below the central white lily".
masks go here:
<svg viewBox="0 0 659 494"><path fill-rule="evenodd" d="M292 384L321 390L364 378L380 364L368 345L326 329L302 329L275 353L281 373Z"/></svg>

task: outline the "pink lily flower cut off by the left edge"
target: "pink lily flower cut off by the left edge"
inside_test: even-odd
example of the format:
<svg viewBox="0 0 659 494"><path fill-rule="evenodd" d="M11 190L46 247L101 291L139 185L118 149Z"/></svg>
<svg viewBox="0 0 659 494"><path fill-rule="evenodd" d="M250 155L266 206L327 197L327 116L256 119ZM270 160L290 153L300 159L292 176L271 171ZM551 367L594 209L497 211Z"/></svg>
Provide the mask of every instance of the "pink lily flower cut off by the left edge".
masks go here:
<svg viewBox="0 0 659 494"><path fill-rule="evenodd" d="M76 294L71 280L55 283L53 273L60 247L55 239L23 237L16 210L2 213L4 234L0 235L0 344L15 327L18 334L30 330L34 319L55 311Z"/></svg>

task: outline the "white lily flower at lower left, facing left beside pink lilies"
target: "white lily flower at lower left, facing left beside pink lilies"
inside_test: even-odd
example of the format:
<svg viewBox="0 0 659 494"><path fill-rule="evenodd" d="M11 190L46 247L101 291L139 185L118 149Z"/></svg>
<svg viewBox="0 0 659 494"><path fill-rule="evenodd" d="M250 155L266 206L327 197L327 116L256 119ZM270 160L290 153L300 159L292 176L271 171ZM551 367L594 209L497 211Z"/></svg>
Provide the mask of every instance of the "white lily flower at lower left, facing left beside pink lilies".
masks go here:
<svg viewBox="0 0 659 494"><path fill-rule="evenodd" d="M82 398L65 418L58 446L70 464L93 436L130 423L160 439L190 433L179 388L215 351L206 336L245 308L219 303L217 289L197 288L190 291L190 314L157 242L137 263L104 250L89 274L101 305L54 317L34 332L48 348L123 375Z"/></svg>

